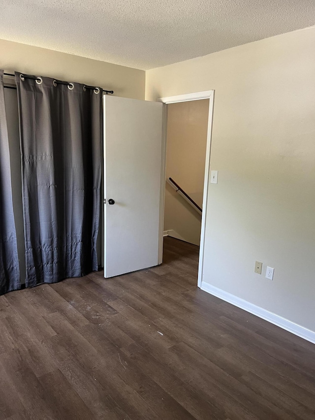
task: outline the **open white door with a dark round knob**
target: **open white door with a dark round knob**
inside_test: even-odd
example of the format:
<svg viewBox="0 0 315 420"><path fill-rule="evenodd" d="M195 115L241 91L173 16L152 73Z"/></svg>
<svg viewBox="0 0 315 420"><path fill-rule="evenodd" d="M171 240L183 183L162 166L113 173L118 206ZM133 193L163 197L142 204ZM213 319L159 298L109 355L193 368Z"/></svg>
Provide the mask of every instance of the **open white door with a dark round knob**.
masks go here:
<svg viewBox="0 0 315 420"><path fill-rule="evenodd" d="M104 96L104 277L158 264L162 107Z"/></svg>

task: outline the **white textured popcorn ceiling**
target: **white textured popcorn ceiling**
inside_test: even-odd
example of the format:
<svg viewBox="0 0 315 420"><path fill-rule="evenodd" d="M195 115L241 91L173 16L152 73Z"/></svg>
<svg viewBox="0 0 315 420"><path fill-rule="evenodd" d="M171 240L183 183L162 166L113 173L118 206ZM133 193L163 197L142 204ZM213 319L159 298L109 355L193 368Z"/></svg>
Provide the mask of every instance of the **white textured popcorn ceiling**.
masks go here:
<svg viewBox="0 0 315 420"><path fill-rule="evenodd" d="M149 69L315 25L314 0L2 0L0 38Z"/></svg>

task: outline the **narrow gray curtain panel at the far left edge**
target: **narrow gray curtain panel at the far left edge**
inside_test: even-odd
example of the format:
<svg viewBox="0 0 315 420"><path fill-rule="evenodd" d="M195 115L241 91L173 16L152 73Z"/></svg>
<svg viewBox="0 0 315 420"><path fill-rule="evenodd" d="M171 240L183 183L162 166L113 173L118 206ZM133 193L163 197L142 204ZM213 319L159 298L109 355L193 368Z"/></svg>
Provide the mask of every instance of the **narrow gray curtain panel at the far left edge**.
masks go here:
<svg viewBox="0 0 315 420"><path fill-rule="evenodd" d="M14 223L3 70L0 70L0 294L21 289Z"/></svg>

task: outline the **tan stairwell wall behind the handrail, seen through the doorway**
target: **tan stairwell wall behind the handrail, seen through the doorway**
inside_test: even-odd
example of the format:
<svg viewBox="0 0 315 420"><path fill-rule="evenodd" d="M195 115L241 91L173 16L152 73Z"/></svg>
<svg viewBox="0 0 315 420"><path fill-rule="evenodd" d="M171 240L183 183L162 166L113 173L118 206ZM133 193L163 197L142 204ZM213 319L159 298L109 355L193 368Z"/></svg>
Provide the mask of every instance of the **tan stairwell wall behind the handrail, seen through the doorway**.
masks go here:
<svg viewBox="0 0 315 420"><path fill-rule="evenodd" d="M166 177L202 207L209 99L167 105ZM164 230L199 245L201 216L166 183Z"/></svg>

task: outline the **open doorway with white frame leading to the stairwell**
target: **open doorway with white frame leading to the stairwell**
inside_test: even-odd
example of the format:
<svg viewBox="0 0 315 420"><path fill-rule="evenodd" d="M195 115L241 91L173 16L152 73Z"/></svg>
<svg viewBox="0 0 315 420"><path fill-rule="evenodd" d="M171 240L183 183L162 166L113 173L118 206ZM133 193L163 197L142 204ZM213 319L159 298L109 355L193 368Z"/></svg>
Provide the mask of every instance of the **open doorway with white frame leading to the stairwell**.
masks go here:
<svg viewBox="0 0 315 420"><path fill-rule="evenodd" d="M191 248L194 254L199 247L199 286L202 279L214 91L159 100L165 104L164 191L161 197L163 240L160 257L162 260L164 242L166 253L169 246L176 246L176 240L186 243L184 248L187 250L194 245L195 249Z"/></svg>

